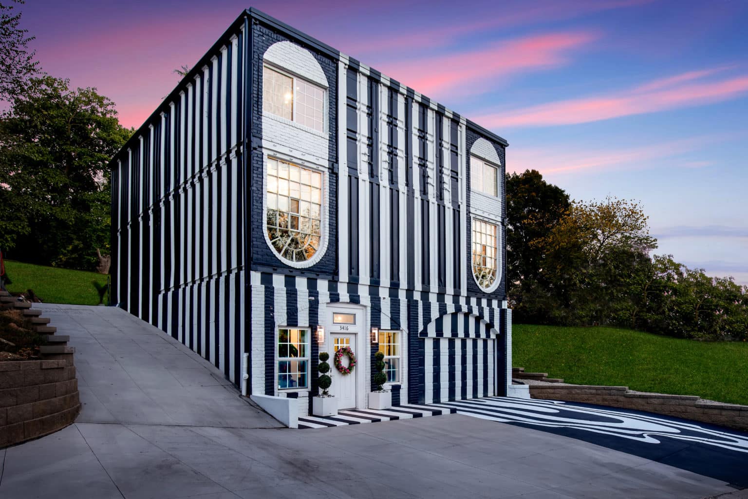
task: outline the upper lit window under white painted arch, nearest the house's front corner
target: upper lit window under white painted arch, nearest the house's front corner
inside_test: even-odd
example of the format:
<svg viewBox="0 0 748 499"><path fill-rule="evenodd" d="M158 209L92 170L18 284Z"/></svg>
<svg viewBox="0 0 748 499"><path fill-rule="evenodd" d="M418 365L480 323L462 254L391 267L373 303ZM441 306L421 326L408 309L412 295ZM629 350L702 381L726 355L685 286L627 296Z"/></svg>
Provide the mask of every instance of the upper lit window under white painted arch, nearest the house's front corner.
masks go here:
<svg viewBox="0 0 748 499"><path fill-rule="evenodd" d="M263 111L294 120L318 132L324 124L325 91L295 76L263 67Z"/></svg>

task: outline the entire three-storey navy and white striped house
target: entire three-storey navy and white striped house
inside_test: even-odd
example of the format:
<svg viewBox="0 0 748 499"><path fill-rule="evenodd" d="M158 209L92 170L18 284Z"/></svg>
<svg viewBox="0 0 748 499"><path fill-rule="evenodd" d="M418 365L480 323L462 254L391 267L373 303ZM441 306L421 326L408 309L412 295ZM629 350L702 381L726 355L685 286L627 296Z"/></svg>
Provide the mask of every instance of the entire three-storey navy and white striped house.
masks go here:
<svg viewBox="0 0 748 499"><path fill-rule="evenodd" d="M394 404L505 395L507 145L245 10L111 162L112 297L302 414L340 346L340 409L378 350Z"/></svg>

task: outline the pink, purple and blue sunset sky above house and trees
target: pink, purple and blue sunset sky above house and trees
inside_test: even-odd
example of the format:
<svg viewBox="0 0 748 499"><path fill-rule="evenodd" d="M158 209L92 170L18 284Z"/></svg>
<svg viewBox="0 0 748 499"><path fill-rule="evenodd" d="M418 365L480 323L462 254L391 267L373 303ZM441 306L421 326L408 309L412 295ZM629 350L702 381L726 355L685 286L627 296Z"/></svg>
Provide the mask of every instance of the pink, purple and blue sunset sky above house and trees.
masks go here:
<svg viewBox="0 0 748 499"><path fill-rule="evenodd" d="M509 141L572 198L640 200L657 254L748 284L748 2L35 1L46 72L140 126L245 7Z"/></svg>

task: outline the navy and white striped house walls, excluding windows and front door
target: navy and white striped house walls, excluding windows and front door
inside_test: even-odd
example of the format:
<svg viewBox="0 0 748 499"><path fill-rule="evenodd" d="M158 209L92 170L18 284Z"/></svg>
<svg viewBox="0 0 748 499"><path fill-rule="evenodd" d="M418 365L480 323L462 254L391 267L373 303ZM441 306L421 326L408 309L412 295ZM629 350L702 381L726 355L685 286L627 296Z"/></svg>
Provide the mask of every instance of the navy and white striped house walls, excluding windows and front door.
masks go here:
<svg viewBox="0 0 748 499"><path fill-rule="evenodd" d="M328 85L325 133L299 134L263 116L263 64L294 61L283 58L287 51L266 58L278 43L319 64ZM309 68L286 69L304 76ZM112 296L121 307L235 384L248 353L249 391L277 394L278 327L313 330L330 304L362 304L369 327L405 335L395 402L503 394L511 358L505 258L491 293L477 288L470 269L476 210L500 224L505 248L503 186L500 206L476 200L476 208L469 184L479 138L494 148L503 180L503 139L255 10L158 111L112 162ZM266 242L268 156L325 171L324 254L311 266L282 262ZM450 314L471 319L452 328ZM473 336L479 329L488 337ZM367 379L369 348L358 352L369 358L359 363ZM313 342L310 358L318 352ZM312 364L300 398L316 394Z"/></svg>

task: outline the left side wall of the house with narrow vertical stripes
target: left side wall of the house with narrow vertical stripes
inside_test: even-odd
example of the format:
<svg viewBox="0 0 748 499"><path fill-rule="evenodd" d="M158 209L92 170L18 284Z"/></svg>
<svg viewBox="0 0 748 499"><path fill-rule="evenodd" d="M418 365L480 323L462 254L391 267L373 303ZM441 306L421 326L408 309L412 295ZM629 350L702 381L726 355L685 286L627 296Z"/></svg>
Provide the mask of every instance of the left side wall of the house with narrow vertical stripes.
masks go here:
<svg viewBox="0 0 748 499"><path fill-rule="evenodd" d="M246 49L228 35L112 163L112 300L238 382Z"/></svg>

